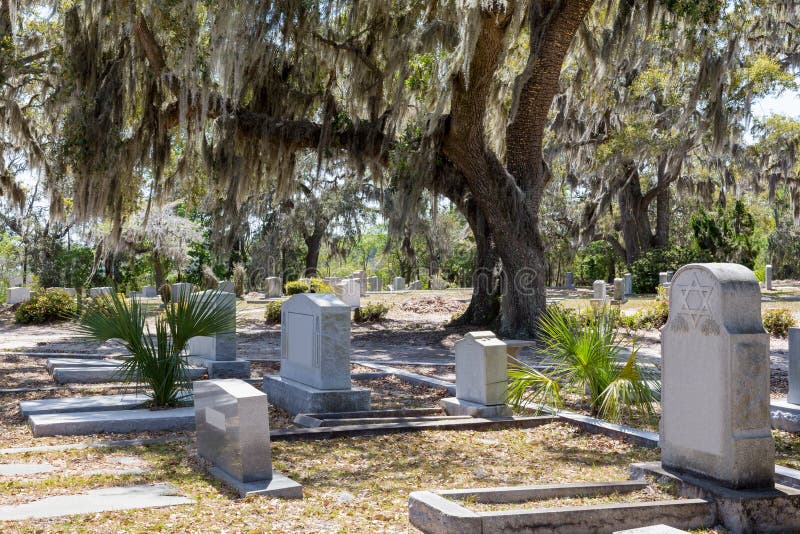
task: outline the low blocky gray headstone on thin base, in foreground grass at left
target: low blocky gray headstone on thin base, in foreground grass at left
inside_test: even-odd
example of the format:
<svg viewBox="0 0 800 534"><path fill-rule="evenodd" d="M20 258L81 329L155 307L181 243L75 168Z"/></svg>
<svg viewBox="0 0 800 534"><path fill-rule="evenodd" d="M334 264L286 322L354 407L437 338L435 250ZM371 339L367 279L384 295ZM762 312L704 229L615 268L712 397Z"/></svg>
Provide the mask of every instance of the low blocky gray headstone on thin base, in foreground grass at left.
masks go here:
<svg viewBox="0 0 800 534"><path fill-rule="evenodd" d="M302 498L299 484L285 477L281 483L272 471L267 396L235 379L201 380L193 388L197 453L214 464L211 473L243 497Z"/></svg>

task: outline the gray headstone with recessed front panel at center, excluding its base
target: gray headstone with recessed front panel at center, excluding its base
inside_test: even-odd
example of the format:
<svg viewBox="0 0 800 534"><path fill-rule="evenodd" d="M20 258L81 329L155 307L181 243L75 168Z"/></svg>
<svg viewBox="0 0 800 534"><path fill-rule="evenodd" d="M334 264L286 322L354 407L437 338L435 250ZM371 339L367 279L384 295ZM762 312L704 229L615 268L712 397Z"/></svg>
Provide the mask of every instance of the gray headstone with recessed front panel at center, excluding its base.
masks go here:
<svg viewBox="0 0 800 534"><path fill-rule="evenodd" d="M284 302L280 375L317 389L349 389L350 306L329 293Z"/></svg>

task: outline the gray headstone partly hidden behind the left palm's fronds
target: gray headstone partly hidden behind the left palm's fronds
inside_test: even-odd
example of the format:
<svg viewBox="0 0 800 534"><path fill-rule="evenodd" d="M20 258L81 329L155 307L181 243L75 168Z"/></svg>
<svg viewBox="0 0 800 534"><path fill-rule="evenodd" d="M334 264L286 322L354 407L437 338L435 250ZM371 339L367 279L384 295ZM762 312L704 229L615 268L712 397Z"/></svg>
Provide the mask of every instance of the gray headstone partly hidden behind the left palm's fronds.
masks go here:
<svg viewBox="0 0 800 534"><path fill-rule="evenodd" d="M236 317L236 295L219 289L196 293ZM250 362L236 359L236 330L216 336L197 336L189 340L189 361L208 369L210 378L249 378Z"/></svg>

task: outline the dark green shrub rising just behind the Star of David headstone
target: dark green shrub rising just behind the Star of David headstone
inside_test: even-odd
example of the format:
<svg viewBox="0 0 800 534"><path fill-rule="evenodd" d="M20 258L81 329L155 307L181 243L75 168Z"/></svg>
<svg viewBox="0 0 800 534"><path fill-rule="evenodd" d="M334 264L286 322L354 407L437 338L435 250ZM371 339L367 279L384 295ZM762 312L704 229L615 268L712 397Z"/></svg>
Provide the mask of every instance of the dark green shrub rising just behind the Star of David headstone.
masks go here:
<svg viewBox="0 0 800 534"><path fill-rule="evenodd" d="M693 244L716 261L740 263L752 269L759 254L756 224L744 202L718 206L716 212L700 209L691 218Z"/></svg>

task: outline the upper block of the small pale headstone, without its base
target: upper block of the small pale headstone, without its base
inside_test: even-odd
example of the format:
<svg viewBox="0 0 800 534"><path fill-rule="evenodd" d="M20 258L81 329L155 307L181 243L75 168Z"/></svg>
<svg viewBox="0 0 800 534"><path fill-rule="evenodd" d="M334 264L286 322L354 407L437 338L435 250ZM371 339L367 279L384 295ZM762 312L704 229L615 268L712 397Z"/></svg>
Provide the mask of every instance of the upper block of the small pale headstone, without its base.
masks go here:
<svg viewBox="0 0 800 534"><path fill-rule="evenodd" d="M506 403L508 347L494 332L470 332L455 344L456 398L488 406Z"/></svg>

